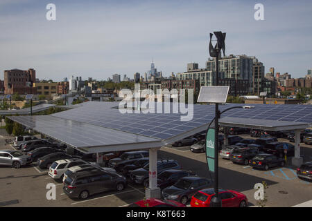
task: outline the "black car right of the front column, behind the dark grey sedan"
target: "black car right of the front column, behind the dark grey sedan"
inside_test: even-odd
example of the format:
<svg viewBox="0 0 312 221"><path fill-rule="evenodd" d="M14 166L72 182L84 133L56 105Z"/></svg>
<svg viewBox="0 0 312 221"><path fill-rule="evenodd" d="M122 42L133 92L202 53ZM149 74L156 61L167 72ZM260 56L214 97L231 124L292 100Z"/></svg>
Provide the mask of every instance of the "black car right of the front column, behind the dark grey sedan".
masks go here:
<svg viewBox="0 0 312 221"><path fill-rule="evenodd" d="M195 176L195 173L191 171L182 171L177 169L162 171L162 173L159 173L159 175L157 175L157 186L160 189L164 189L168 186L172 186L173 184L175 184L175 182L177 182L177 180L180 180L182 177L189 176Z"/></svg>

